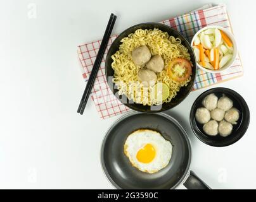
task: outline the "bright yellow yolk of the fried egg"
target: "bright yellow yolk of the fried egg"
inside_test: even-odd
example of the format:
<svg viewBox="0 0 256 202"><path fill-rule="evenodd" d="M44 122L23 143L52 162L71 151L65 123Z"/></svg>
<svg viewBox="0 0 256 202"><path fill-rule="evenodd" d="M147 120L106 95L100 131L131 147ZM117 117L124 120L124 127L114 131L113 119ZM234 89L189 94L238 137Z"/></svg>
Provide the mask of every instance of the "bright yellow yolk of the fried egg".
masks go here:
<svg viewBox="0 0 256 202"><path fill-rule="evenodd" d="M150 163L155 158L155 153L153 145L146 144L137 152L136 158L141 163Z"/></svg>

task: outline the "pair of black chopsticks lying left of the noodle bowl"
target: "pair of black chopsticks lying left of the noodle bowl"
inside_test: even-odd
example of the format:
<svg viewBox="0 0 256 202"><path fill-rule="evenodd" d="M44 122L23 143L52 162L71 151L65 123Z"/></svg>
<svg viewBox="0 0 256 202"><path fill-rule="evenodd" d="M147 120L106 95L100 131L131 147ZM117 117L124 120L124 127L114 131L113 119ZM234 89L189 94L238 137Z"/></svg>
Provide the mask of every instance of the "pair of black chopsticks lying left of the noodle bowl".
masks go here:
<svg viewBox="0 0 256 202"><path fill-rule="evenodd" d="M117 16L115 16L112 13L110 15L110 20L108 20L108 25L106 26L106 30L105 30L103 39L101 41L101 45L99 46L99 52L98 52L95 62L93 64L93 69L92 69L89 79L87 81L86 89L84 89L82 99L81 99L79 107L77 109L77 113L80 113L80 114L84 113L84 109L86 108L87 100L91 93L91 89L93 88L93 84L94 84L95 78L96 78L98 70L99 70L99 65L101 64L101 60L102 60L104 52L106 50L106 45L108 45L108 40L110 39L110 34L112 33L116 19L117 19Z"/></svg>

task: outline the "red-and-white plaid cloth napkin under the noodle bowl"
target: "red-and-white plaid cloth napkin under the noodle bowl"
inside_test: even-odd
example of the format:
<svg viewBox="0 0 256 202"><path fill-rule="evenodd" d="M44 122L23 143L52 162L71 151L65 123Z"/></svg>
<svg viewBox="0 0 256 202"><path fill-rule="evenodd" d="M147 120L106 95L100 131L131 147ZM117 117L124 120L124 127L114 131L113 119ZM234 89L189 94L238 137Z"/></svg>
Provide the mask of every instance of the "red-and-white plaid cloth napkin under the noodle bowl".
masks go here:
<svg viewBox="0 0 256 202"><path fill-rule="evenodd" d="M191 13L161 21L160 23L175 28L189 41L192 39L193 35L200 30L200 28L207 25L219 25L221 27L230 29L232 32L229 16L227 15L226 6L224 4L219 4L218 6L214 7L207 4L203 6L203 9L200 8L196 11L192 11ZM110 37L103 61L101 62L99 72L93 86L93 90L91 92L91 97L96 105L96 109L103 119L115 116L117 114L122 114L123 112L127 112L129 110L129 108L125 107L125 105L117 100L115 95L113 95L105 78L106 54L116 37L117 35ZM95 40L93 42L78 46L79 59L82 64L82 76L86 81L87 78L89 78L91 69L93 68L100 43L101 40ZM223 73L206 73L205 71L197 68L193 90L198 90L222 81L231 80L242 75L243 67L241 65L240 56L237 56L233 66Z"/></svg>

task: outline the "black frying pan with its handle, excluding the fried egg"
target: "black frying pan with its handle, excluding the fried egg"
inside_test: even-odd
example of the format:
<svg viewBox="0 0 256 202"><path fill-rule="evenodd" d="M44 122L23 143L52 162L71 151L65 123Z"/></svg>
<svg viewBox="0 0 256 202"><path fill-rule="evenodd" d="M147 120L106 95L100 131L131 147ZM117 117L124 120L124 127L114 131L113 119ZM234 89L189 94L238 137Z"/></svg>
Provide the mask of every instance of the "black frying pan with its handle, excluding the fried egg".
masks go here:
<svg viewBox="0 0 256 202"><path fill-rule="evenodd" d="M132 167L124 154L124 143L137 129L153 129L172 143L172 158L164 169L155 174ZM160 113L132 112L115 122L101 147L101 165L108 180L118 189L174 189L189 175L191 146L186 131L176 119ZM190 172L184 182L187 188L207 189L208 186Z"/></svg>

